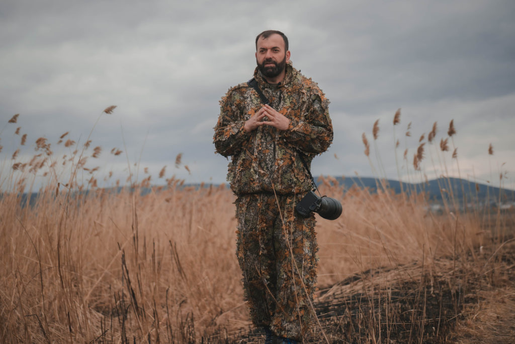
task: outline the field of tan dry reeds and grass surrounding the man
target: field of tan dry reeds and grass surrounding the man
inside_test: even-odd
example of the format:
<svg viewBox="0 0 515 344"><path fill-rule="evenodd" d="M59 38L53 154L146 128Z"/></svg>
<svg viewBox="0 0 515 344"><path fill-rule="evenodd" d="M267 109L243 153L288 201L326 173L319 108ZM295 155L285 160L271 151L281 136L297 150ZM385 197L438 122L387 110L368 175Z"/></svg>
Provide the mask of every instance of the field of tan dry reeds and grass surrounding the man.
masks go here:
<svg viewBox="0 0 515 344"><path fill-rule="evenodd" d="M430 154L447 152L442 142ZM0 153L1 342L263 342L243 301L227 187L173 177L151 187L129 175L99 188L88 159L101 148L88 141L61 157L43 138L35 148L28 160ZM305 342L511 342L513 212L447 204L435 214L423 194L321 182L344 210L335 221L317 217L317 320ZM28 191L38 192L29 205Z"/></svg>

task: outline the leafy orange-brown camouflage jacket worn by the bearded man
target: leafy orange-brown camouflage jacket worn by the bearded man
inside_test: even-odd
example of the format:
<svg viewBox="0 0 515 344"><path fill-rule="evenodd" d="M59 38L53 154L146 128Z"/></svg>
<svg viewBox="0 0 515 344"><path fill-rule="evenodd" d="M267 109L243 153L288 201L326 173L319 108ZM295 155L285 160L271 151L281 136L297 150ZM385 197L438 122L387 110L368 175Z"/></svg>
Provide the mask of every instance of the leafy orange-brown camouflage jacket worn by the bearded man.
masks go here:
<svg viewBox="0 0 515 344"><path fill-rule="evenodd" d="M263 106L258 93L247 83L227 92L220 101L220 116L213 142L216 151L232 156L227 180L236 194L273 192L300 193L312 188L306 165L329 148L333 127L329 100L317 84L286 64L286 77L277 86L254 71L270 106L290 120L287 130L262 125L250 133L244 124Z"/></svg>

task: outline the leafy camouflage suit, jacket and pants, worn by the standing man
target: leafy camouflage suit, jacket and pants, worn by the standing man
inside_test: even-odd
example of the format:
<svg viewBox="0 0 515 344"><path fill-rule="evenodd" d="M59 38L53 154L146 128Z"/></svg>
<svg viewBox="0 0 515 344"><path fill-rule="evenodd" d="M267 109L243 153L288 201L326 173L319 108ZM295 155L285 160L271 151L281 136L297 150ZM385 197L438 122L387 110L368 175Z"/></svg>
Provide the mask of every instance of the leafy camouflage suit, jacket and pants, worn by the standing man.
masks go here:
<svg viewBox="0 0 515 344"><path fill-rule="evenodd" d="M263 104L243 83L220 101L213 141L218 153L232 157L227 179L237 195L236 254L252 322L300 340L312 317L318 260L315 217L295 211L312 188L300 156L310 167L329 148L329 100L290 63L277 86L266 83L258 68L254 78L270 106L289 119L288 129L262 125L245 131L245 121Z"/></svg>

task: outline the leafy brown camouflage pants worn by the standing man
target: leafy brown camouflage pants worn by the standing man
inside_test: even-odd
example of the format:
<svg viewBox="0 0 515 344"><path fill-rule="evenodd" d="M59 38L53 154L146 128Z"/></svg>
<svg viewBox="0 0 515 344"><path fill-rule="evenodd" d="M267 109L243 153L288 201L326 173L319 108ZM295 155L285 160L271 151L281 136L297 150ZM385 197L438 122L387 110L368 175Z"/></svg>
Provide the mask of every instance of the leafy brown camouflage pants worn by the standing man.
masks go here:
<svg viewBox="0 0 515 344"><path fill-rule="evenodd" d="M295 212L301 196L245 194L235 202L236 254L252 322L297 340L313 316L318 263L315 217Z"/></svg>

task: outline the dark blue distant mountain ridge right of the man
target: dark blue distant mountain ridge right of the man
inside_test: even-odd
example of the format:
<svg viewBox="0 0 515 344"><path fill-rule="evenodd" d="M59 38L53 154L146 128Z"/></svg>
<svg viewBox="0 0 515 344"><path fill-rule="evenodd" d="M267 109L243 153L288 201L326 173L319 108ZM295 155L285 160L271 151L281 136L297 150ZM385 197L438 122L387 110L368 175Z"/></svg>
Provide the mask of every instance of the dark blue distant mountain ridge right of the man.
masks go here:
<svg viewBox="0 0 515 344"><path fill-rule="evenodd" d="M442 202L443 199L450 199L451 195L459 203L464 200L480 201L488 203L499 202L501 195L501 203L515 202L515 190L501 189L498 187L479 184L466 181L460 178L438 178L424 183L404 183L392 179L377 179L372 177L337 177L336 180L340 185L344 185L349 190L353 185L361 188L367 188L370 192L376 192L379 189L393 190L395 193L404 192L420 193L425 192L430 201Z"/></svg>

